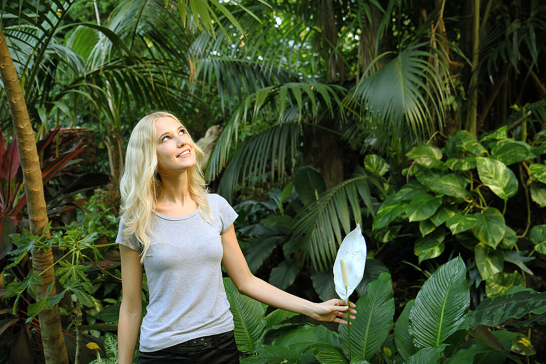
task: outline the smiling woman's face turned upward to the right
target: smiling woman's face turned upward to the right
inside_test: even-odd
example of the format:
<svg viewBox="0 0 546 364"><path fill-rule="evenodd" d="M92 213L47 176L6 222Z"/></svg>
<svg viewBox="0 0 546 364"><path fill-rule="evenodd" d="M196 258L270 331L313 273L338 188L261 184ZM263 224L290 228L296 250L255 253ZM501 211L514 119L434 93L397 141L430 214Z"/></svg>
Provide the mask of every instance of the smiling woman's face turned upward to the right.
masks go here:
<svg viewBox="0 0 546 364"><path fill-rule="evenodd" d="M157 168L162 176L177 175L195 165L193 141L172 117L156 120Z"/></svg>

